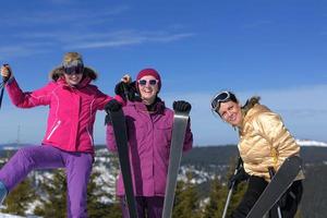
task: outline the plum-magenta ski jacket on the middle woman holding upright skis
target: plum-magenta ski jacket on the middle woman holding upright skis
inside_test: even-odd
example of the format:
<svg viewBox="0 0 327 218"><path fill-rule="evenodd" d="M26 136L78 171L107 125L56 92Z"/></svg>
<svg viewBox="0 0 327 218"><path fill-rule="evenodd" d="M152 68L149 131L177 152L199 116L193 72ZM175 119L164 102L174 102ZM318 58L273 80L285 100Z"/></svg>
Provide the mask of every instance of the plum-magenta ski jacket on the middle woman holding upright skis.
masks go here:
<svg viewBox="0 0 327 218"><path fill-rule="evenodd" d="M123 108L129 137L130 161L136 196L165 196L173 111L157 102L156 112L148 112L143 102L128 102ZM183 150L192 148L193 135L187 124ZM107 125L107 146L116 152L112 125ZM124 195L122 175L117 194Z"/></svg>

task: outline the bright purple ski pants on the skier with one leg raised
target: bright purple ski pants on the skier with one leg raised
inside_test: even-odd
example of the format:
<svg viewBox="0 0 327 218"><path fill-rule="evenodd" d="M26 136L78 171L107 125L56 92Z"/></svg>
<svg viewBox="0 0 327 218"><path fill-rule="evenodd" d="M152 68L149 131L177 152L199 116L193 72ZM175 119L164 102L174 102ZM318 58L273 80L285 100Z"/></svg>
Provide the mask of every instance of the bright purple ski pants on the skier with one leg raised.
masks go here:
<svg viewBox="0 0 327 218"><path fill-rule="evenodd" d="M50 145L23 147L0 170L0 181L10 192L34 169L64 168L68 182L68 217L87 217L87 183L93 156L69 153Z"/></svg>

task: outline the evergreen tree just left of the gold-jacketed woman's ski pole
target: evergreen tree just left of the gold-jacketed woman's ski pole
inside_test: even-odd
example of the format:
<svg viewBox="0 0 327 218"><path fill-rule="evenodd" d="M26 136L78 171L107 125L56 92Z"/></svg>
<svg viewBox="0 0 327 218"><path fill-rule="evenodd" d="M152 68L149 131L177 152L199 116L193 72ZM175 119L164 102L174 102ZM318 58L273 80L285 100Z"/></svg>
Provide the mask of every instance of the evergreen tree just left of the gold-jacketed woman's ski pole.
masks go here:
<svg viewBox="0 0 327 218"><path fill-rule="evenodd" d="M209 202L205 206L203 218L220 218L225 207L226 186L222 186L220 180L216 175L210 182Z"/></svg>

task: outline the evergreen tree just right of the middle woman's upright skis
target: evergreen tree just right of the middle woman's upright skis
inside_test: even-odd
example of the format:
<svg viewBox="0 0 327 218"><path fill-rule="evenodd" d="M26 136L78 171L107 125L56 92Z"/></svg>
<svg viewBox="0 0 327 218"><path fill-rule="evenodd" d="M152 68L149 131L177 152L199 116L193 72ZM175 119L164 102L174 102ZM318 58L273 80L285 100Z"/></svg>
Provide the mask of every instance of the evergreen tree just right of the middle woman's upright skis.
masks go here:
<svg viewBox="0 0 327 218"><path fill-rule="evenodd" d="M198 196L196 185L192 184L192 173L186 173L186 183L179 182L177 186L173 218L198 218Z"/></svg>

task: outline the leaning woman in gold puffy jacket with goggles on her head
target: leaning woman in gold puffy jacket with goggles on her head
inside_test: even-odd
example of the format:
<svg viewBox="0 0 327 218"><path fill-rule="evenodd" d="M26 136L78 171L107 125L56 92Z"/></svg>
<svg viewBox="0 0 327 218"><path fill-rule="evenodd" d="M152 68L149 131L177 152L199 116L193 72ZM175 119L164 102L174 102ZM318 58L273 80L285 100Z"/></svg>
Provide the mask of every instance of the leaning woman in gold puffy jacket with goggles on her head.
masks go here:
<svg viewBox="0 0 327 218"><path fill-rule="evenodd" d="M249 180L247 190L232 218L246 217L264 189L270 181L268 168L279 169L286 158L299 155L300 146L286 129L280 116L259 104L259 97L250 98L241 106L231 92L221 92L211 100L211 109L227 123L239 130L239 152L243 167L229 184ZM281 197L283 218L294 217L303 187L302 171Z"/></svg>

